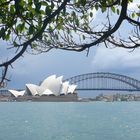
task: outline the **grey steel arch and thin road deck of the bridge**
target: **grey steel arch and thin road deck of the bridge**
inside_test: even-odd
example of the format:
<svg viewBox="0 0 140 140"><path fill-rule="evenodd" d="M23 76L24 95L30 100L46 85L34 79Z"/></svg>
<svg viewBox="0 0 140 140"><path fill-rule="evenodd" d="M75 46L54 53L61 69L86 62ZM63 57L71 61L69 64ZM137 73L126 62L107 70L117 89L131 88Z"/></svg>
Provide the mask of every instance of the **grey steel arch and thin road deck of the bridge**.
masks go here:
<svg viewBox="0 0 140 140"><path fill-rule="evenodd" d="M87 74L82 74L82 75L77 75L74 77L71 77L69 79L66 79L65 81L69 81L71 84L78 84L79 82L88 80L88 79L95 79L95 78L102 78L102 79L113 79L116 81L121 81L122 83L125 83L129 85L131 88L126 89L129 91L140 91L140 81L134 78L131 78L129 76L125 75L120 75L120 74L115 74L115 73L105 73L105 72L97 72L97 73L87 73ZM77 90L90 90L89 88L83 88L83 89L78 89ZM98 88L91 88L91 90L99 90ZM103 90L103 89L100 89ZM107 90L107 89L104 89ZM109 90L109 89L108 89ZM113 89L112 89L113 90ZM114 89L114 90L124 90L124 89Z"/></svg>

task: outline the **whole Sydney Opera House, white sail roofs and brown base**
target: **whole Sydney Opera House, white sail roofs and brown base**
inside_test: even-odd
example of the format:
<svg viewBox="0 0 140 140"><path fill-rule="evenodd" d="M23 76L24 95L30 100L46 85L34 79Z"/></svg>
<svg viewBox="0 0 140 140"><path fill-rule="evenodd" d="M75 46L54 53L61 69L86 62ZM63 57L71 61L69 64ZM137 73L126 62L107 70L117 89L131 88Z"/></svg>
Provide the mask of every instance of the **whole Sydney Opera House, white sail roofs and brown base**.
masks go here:
<svg viewBox="0 0 140 140"><path fill-rule="evenodd" d="M69 84L69 81L63 82L63 76L51 75L40 85L26 84L23 91L9 90L9 92L17 101L75 101L76 87L77 85Z"/></svg>

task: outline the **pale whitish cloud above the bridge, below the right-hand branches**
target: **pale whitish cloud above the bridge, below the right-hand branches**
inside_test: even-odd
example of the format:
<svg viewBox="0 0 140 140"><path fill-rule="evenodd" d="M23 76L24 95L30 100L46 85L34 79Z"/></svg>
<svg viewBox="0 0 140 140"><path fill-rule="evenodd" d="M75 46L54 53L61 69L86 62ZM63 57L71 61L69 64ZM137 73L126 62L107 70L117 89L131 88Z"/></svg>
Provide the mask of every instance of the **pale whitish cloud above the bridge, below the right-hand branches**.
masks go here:
<svg viewBox="0 0 140 140"><path fill-rule="evenodd" d="M118 73L138 73L140 69L140 50L129 52L127 49L107 49L101 47L92 60L94 71L109 71Z"/></svg>

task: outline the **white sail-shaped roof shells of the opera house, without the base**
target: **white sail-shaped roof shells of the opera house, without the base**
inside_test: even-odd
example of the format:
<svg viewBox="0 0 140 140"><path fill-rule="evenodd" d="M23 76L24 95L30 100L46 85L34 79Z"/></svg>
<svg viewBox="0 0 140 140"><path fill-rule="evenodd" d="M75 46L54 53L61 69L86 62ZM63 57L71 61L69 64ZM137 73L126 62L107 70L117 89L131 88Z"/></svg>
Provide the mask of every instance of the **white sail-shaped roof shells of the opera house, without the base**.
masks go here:
<svg viewBox="0 0 140 140"><path fill-rule="evenodd" d="M15 97L24 96L55 96L59 97L62 95L74 95L77 85L69 84L69 81L63 82L63 76L56 77L51 75L41 82L40 85L26 84L25 90L9 90L9 92Z"/></svg>

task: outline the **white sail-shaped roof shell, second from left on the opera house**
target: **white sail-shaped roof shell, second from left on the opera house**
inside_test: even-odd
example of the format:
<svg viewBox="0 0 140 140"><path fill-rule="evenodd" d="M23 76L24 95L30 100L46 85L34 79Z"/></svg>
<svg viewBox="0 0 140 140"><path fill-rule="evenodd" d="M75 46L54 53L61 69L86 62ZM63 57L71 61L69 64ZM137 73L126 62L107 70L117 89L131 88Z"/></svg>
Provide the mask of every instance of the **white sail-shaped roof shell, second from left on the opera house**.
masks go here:
<svg viewBox="0 0 140 140"><path fill-rule="evenodd" d="M37 85L34 84L26 84L26 92L27 94L32 94L33 96L37 95ZM30 93L29 93L30 92Z"/></svg>

